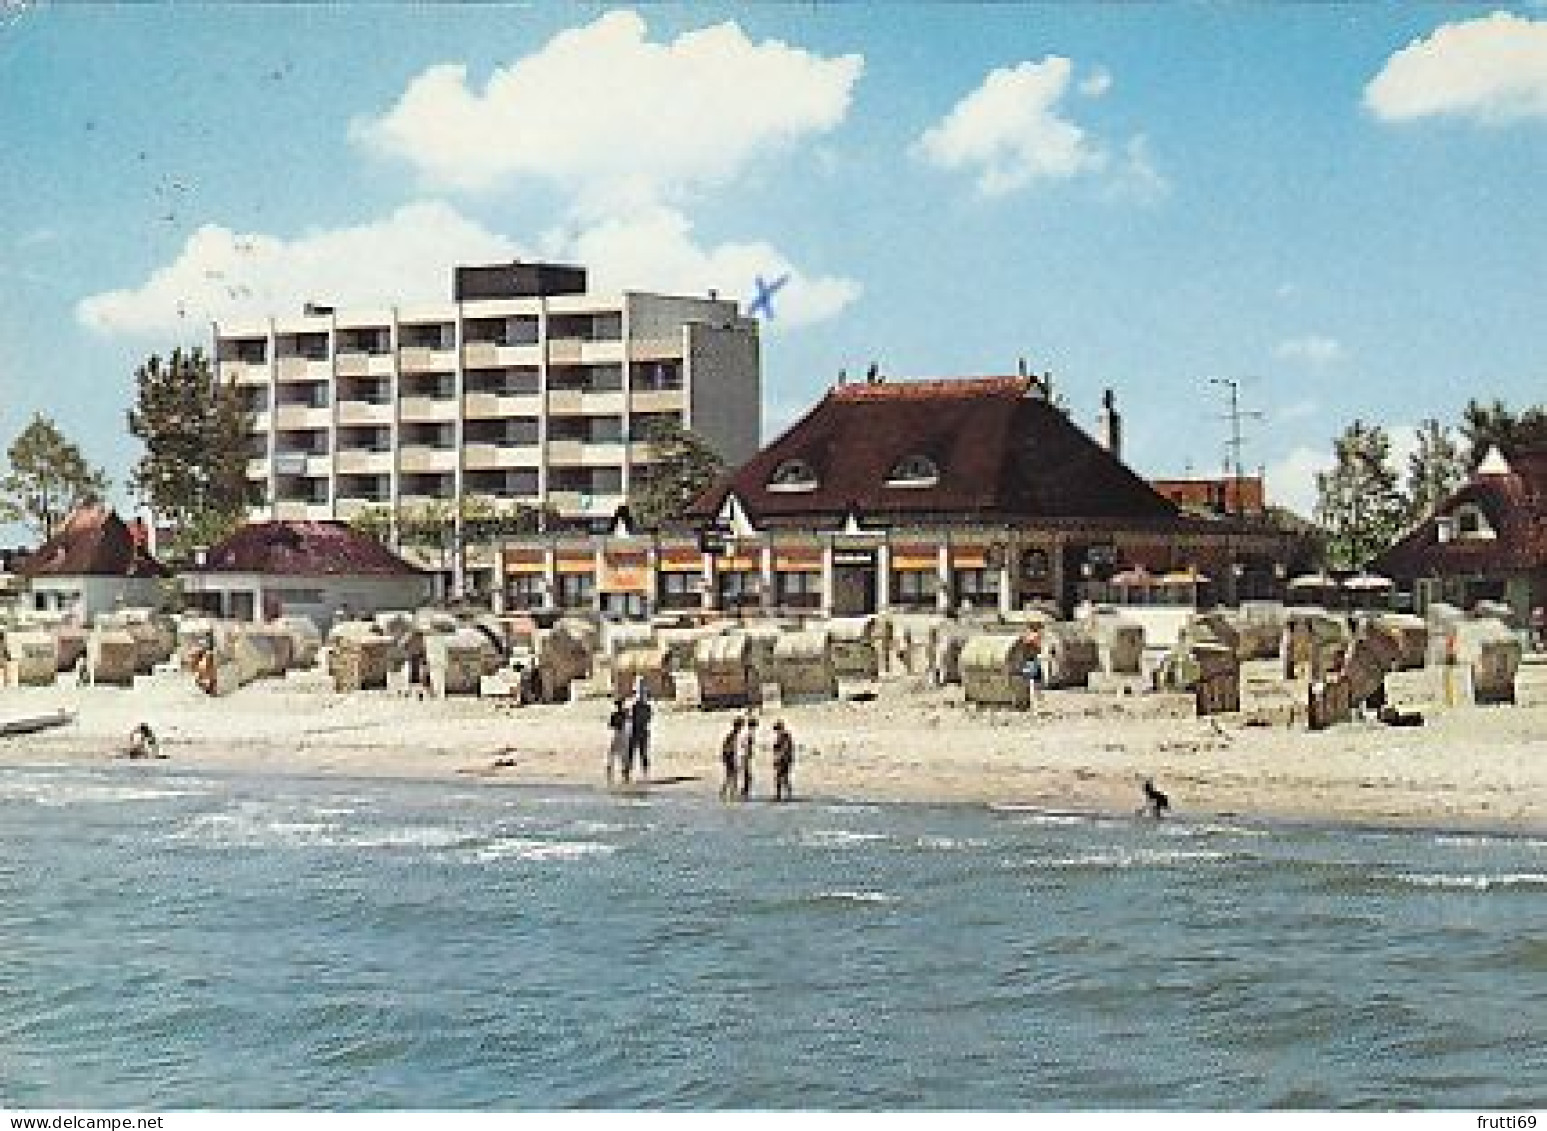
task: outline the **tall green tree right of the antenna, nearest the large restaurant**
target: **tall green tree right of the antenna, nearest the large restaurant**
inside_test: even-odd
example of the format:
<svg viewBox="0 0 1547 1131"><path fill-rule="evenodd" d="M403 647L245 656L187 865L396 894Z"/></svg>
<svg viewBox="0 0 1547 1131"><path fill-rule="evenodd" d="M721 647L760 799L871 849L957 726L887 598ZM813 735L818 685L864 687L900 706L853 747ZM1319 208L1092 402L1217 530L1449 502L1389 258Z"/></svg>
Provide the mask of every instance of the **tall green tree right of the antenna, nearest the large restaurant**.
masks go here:
<svg viewBox="0 0 1547 1131"><path fill-rule="evenodd" d="M1408 504L1391 466L1391 438L1378 424L1354 421L1332 452L1332 470L1316 475L1315 518L1327 534L1329 563L1358 569L1395 540Z"/></svg>

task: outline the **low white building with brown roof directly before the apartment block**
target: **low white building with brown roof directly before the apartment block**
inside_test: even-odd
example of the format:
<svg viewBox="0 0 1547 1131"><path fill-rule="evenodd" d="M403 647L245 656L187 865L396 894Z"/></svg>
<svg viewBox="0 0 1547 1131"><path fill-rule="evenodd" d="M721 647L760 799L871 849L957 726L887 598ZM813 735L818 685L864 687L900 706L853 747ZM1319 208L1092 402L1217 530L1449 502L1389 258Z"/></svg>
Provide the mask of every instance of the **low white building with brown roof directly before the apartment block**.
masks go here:
<svg viewBox="0 0 1547 1131"><path fill-rule="evenodd" d="M328 631L340 613L415 608L432 576L337 521L249 523L179 574L189 605L232 620L303 616Z"/></svg>

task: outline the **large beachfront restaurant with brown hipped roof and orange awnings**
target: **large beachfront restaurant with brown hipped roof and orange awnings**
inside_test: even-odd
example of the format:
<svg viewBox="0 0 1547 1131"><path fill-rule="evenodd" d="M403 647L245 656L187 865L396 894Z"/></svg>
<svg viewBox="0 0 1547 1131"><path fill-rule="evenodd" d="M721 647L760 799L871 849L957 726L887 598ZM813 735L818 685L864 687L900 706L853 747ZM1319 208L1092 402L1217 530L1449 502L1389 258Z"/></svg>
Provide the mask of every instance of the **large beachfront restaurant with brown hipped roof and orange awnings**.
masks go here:
<svg viewBox="0 0 1547 1131"><path fill-rule="evenodd" d="M1204 602L1276 597L1309 551L1261 521L1180 514L1032 378L832 388L687 520L511 540L506 607L1069 616L1125 569L1185 574Z"/></svg>

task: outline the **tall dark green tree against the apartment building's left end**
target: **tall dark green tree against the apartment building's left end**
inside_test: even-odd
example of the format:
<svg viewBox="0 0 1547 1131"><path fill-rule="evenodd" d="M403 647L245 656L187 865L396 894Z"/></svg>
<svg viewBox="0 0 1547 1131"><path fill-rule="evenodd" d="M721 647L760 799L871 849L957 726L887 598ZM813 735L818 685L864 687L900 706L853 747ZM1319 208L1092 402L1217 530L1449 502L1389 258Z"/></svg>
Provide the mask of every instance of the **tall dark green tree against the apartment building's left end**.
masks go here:
<svg viewBox="0 0 1547 1131"><path fill-rule="evenodd" d="M130 487L173 526L172 557L218 542L246 517L251 418L204 351L152 354L135 370L128 430L144 444Z"/></svg>

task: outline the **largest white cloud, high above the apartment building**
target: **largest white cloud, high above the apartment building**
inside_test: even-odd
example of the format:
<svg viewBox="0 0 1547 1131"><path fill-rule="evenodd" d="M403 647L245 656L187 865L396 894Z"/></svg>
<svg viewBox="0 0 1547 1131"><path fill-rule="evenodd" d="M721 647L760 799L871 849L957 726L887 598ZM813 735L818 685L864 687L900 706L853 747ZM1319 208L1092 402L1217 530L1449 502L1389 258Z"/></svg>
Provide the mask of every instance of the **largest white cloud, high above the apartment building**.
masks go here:
<svg viewBox="0 0 1547 1131"><path fill-rule="evenodd" d="M753 158L838 125L865 60L735 23L647 39L616 11L498 68L478 90L459 63L432 67L351 135L427 183L483 190L534 176L589 203L651 201L727 179Z"/></svg>

